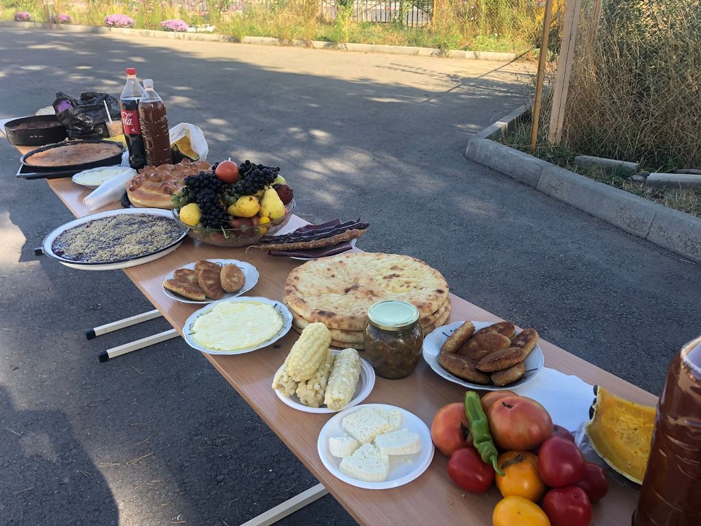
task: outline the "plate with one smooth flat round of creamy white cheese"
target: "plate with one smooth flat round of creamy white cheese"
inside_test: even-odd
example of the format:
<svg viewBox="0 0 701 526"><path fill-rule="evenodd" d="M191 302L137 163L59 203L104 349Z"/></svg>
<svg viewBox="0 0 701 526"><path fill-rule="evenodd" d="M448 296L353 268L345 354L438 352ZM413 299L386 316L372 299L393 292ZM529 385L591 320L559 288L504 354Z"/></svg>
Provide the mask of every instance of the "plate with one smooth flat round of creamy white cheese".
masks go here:
<svg viewBox="0 0 701 526"><path fill-rule="evenodd" d="M292 313L266 297L233 297L191 314L183 328L186 344L207 354L250 353L290 332Z"/></svg>

